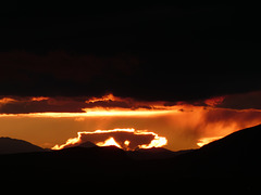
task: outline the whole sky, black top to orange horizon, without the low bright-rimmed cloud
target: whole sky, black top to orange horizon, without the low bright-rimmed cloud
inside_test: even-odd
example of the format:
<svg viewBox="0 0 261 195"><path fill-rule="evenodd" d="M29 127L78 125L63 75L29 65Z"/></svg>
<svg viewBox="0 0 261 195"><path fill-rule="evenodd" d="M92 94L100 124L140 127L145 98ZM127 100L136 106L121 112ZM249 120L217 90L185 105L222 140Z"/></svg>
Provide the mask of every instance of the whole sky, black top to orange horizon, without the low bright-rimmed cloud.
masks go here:
<svg viewBox="0 0 261 195"><path fill-rule="evenodd" d="M134 128L186 150L261 122L253 4L2 8L0 136L52 147L77 132Z"/></svg>

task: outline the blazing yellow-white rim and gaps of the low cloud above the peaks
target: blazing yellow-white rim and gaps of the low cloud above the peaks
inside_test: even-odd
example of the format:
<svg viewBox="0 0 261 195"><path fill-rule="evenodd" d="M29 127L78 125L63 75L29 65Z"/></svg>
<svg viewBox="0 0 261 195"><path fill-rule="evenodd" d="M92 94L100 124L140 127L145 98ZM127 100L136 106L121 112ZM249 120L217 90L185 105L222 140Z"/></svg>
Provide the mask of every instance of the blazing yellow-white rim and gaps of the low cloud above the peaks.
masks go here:
<svg viewBox="0 0 261 195"><path fill-rule="evenodd" d="M134 135L149 135L149 136L153 136L153 140L151 140L151 142L149 144L140 144L137 145L137 147L139 148L151 148L151 147L162 147L164 145L167 144L167 140L164 136L159 136L157 133L154 132L149 132L146 130L135 130L135 129L113 129L113 130L96 130L94 132L78 132L78 136L77 138L73 138L73 139L69 139L66 141L65 144L62 145L54 145L52 147L52 150L62 150L64 147L67 146L76 146L79 145L83 140L83 135L88 135L88 134L105 134L105 133L117 133L117 132L124 132L124 133L129 133L129 134L134 134ZM114 145L117 146L120 148L124 148L124 150L130 150L128 146L132 144L132 141L129 140L125 140L123 142L123 145L121 145L121 143L116 142L114 138L110 136L109 139L102 141L102 142L96 142L95 144L97 144L98 146L108 146L108 145Z"/></svg>

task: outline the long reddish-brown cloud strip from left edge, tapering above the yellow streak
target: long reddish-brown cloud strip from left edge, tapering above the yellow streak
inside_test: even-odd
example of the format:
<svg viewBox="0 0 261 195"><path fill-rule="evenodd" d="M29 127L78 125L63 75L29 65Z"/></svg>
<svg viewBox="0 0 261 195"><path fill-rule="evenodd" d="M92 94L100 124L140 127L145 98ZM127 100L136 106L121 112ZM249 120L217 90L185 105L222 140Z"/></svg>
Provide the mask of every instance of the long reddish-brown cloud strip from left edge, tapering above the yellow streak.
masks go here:
<svg viewBox="0 0 261 195"><path fill-rule="evenodd" d="M149 102L137 102L133 99L96 100L87 96L0 96L0 114L28 113L83 113L84 108L102 107L151 109Z"/></svg>

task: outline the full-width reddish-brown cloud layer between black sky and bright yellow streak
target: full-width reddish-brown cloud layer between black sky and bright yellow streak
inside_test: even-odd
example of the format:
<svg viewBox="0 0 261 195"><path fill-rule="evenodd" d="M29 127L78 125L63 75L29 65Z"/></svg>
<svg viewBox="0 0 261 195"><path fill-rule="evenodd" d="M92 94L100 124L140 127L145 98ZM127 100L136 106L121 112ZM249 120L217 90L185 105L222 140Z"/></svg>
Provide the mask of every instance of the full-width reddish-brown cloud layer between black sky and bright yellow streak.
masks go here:
<svg viewBox="0 0 261 195"><path fill-rule="evenodd" d="M132 98L120 98L109 93L98 98L88 96L0 96L0 114L28 113L84 113L91 108L109 109L179 109L185 112L191 106L261 109L261 91L215 96L200 101L163 102L137 101ZM94 110L95 110L94 109Z"/></svg>

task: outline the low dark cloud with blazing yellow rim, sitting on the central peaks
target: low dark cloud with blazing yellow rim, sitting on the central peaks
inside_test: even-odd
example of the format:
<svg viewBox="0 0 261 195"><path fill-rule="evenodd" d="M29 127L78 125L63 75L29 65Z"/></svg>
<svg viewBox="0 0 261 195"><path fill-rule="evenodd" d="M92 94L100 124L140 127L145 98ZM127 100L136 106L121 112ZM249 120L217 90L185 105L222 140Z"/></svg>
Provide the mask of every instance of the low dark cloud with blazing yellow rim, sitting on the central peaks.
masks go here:
<svg viewBox="0 0 261 195"><path fill-rule="evenodd" d="M154 132L135 129L96 130L94 132L78 132L77 138L69 139L65 144L55 145L52 150L78 146L85 142L92 142L98 146L114 145L126 151L136 148L162 147L167 140Z"/></svg>

